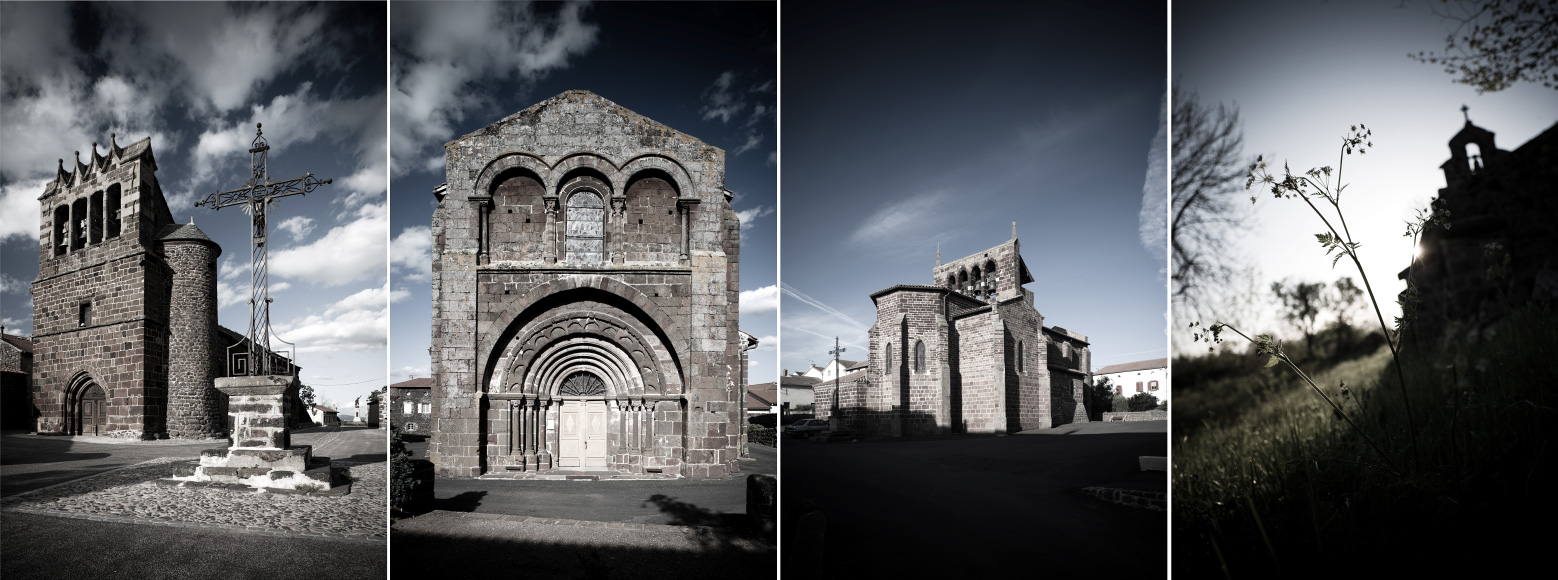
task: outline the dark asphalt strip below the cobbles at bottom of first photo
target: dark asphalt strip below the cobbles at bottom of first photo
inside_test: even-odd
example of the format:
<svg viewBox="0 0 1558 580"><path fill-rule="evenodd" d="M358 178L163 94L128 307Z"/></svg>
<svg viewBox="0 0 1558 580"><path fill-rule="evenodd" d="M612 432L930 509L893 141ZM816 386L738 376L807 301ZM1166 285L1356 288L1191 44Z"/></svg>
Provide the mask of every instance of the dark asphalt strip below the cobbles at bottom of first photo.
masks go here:
<svg viewBox="0 0 1558 580"><path fill-rule="evenodd" d="M238 580L385 578L386 547L199 529L97 522L8 511L5 578Z"/></svg>

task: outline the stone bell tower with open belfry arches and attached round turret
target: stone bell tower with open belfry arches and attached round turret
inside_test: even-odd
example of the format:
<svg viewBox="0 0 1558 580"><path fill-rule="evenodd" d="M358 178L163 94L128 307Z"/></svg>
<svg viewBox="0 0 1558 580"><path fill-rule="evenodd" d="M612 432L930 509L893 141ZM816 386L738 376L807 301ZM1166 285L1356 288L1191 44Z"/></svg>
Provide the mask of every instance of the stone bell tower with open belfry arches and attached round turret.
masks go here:
<svg viewBox="0 0 1558 580"><path fill-rule="evenodd" d="M59 162L33 282L39 432L134 438L226 433L217 246L176 225L151 139ZM178 296L178 298L174 298Z"/></svg>

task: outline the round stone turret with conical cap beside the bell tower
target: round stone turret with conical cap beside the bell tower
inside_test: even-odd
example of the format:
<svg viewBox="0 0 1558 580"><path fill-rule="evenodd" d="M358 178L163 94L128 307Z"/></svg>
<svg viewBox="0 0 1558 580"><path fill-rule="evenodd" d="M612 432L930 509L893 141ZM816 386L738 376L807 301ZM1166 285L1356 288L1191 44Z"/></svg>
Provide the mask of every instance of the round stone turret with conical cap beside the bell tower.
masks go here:
<svg viewBox="0 0 1558 580"><path fill-rule="evenodd" d="M221 246L193 223L164 228L162 253L173 268L168 307L168 437L227 435L217 337L217 257Z"/></svg>

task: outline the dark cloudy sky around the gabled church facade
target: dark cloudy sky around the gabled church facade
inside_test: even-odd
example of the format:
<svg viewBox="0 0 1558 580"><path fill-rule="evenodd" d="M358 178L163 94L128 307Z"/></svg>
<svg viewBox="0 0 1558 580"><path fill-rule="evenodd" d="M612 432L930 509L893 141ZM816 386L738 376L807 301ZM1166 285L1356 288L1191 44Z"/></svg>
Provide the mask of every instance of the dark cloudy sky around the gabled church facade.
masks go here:
<svg viewBox="0 0 1558 580"><path fill-rule="evenodd" d="M570 89L724 150L742 217L751 380L777 376L774 3L393 3L391 377L430 373L433 187L442 145ZM768 379L773 380L773 379Z"/></svg>

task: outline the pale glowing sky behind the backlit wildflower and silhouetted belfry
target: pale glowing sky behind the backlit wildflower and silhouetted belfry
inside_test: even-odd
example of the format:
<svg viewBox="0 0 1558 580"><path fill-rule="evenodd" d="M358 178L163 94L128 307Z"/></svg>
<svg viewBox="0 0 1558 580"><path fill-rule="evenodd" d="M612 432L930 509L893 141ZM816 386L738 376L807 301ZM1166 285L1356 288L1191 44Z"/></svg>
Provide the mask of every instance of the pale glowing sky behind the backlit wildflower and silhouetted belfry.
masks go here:
<svg viewBox="0 0 1558 580"><path fill-rule="evenodd" d="M1251 159L1265 154L1278 168L1292 162L1295 172L1335 165L1348 126L1374 131L1374 147L1346 159L1343 210L1363 243L1359 253L1387 321L1399 313L1396 295L1405 282L1396 274L1412 256L1405 220L1444 187L1440 164L1465 123L1461 104L1471 108L1472 123L1497 134L1500 150L1558 120L1552 89L1516 84L1479 95L1440 65L1408 59L1444 50L1452 23L1430 6L1440 3L1175 2L1173 12L1176 81L1203 101L1239 104ZM1273 34L1273 27L1290 34ZM1250 295L1262 302L1225 320L1293 335L1274 317L1270 282L1357 279L1357 270L1346 260L1332 270L1313 239L1324 226L1302 201L1265 195L1251 210L1254 223L1235 232L1234 246L1257 268Z"/></svg>

